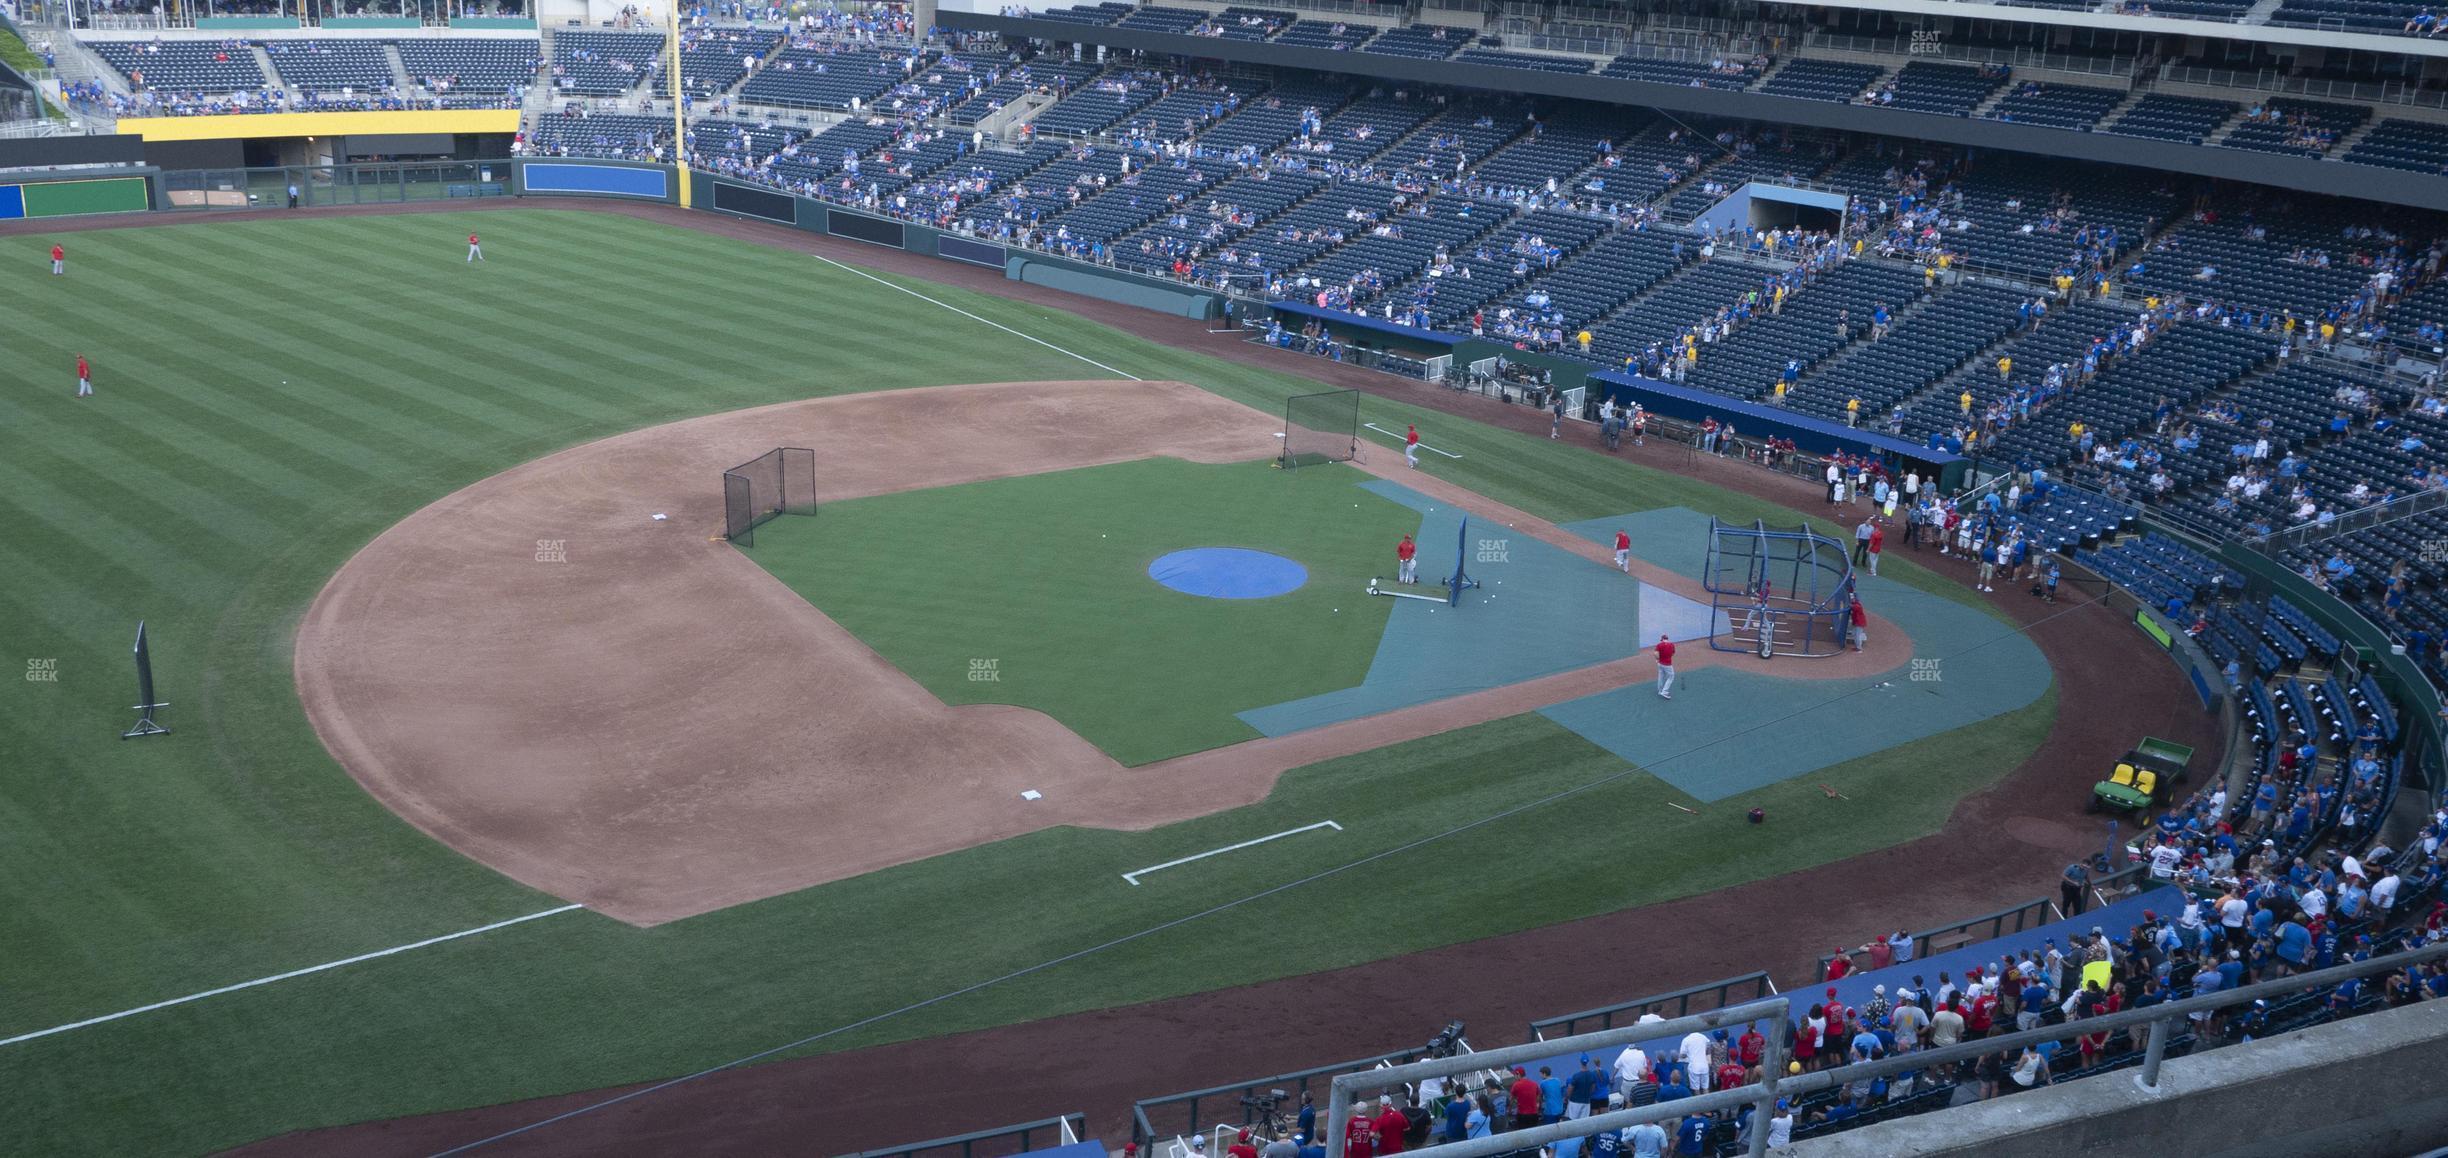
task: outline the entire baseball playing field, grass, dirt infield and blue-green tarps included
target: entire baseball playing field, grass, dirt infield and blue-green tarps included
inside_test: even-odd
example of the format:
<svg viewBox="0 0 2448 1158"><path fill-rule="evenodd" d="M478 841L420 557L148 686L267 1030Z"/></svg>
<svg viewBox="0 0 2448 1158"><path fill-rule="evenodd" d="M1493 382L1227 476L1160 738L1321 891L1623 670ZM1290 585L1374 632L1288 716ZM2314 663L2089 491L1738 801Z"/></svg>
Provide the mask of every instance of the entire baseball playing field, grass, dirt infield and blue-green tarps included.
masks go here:
<svg viewBox="0 0 2448 1158"><path fill-rule="evenodd" d="M1361 419L1444 455L1364 431L1273 470L1322 389L1293 357L614 213L64 237L69 277L0 237L5 1153L206 1153L1616 913L1936 832L2056 720L2015 624L1900 553L1870 656L1689 644L1657 715L1635 634L1694 590L1694 526L1792 512L1388 397ZM820 514L710 541L720 470L771 446L818 448ZM1442 575L1461 514L1491 602L1364 592L1403 534ZM1192 548L1305 580L1151 573ZM137 619L174 732L122 742ZM1748 808L1816 820L1748 840Z"/></svg>

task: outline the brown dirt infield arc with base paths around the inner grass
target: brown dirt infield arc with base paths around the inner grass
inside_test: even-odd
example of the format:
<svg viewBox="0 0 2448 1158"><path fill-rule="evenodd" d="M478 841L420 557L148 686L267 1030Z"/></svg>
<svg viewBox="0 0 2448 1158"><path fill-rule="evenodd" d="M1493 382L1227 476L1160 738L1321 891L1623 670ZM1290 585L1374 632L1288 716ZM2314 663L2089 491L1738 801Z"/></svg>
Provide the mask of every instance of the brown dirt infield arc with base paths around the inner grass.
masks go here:
<svg viewBox="0 0 2448 1158"><path fill-rule="evenodd" d="M605 438L375 539L306 612L296 683L333 756L394 813L524 884L654 925L1053 825L1246 805L1300 764L1650 676L1625 659L1124 769L1043 712L947 708L707 536L720 470L774 446L815 448L818 499L837 502L1146 455L1248 460L1278 431L1180 382L1013 382ZM1599 551L1422 473L1405 482ZM1807 673L1909 656L1900 632L1878 641Z"/></svg>

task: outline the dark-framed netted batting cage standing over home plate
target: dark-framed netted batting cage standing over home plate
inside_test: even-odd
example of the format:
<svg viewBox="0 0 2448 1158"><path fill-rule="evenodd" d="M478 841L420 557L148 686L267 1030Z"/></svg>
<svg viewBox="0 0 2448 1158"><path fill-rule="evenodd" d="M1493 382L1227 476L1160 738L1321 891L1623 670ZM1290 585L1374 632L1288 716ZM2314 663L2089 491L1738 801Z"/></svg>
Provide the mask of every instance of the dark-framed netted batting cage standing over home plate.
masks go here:
<svg viewBox="0 0 2448 1158"><path fill-rule="evenodd" d="M1809 526L1709 519L1709 646L1767 656L1834 656L1853 627L1853 561Z"/></svg>

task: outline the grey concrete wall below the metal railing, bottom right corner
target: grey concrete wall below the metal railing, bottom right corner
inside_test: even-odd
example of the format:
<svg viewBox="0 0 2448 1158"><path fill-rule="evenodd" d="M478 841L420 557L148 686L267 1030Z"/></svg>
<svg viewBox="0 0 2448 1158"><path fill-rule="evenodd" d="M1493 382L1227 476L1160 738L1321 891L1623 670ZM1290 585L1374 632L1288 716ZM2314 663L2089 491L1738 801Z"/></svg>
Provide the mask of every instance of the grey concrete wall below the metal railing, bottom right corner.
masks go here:
<svg viewBox="0 0 2448 1158"><path fill-rule="evenodd" d="M1883 1121L1777 1153L1794 1158L2406 1156L2448 1141L2448 1001L2370 1014L2252 1045Z"/></svg>

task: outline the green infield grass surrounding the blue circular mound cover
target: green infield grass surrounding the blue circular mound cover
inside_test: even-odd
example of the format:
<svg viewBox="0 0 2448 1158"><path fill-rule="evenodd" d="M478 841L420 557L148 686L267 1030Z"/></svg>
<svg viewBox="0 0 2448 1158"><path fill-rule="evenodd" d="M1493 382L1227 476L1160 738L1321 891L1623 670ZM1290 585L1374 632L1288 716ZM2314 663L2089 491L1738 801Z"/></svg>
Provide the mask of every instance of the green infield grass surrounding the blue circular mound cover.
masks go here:
<svg viewBox="0 0 2448 1158"><path fill-rule="evenodd" d="M1036 708L1151 764L1256 739L1234 712L1368 676L1395 600L1361 588L1420 514L1361 477L1148 458L832 502L756 529L749 558L938 700ZM1273 551L1310 578L1268 600L1148 578L1192 546Z"/></svg>

